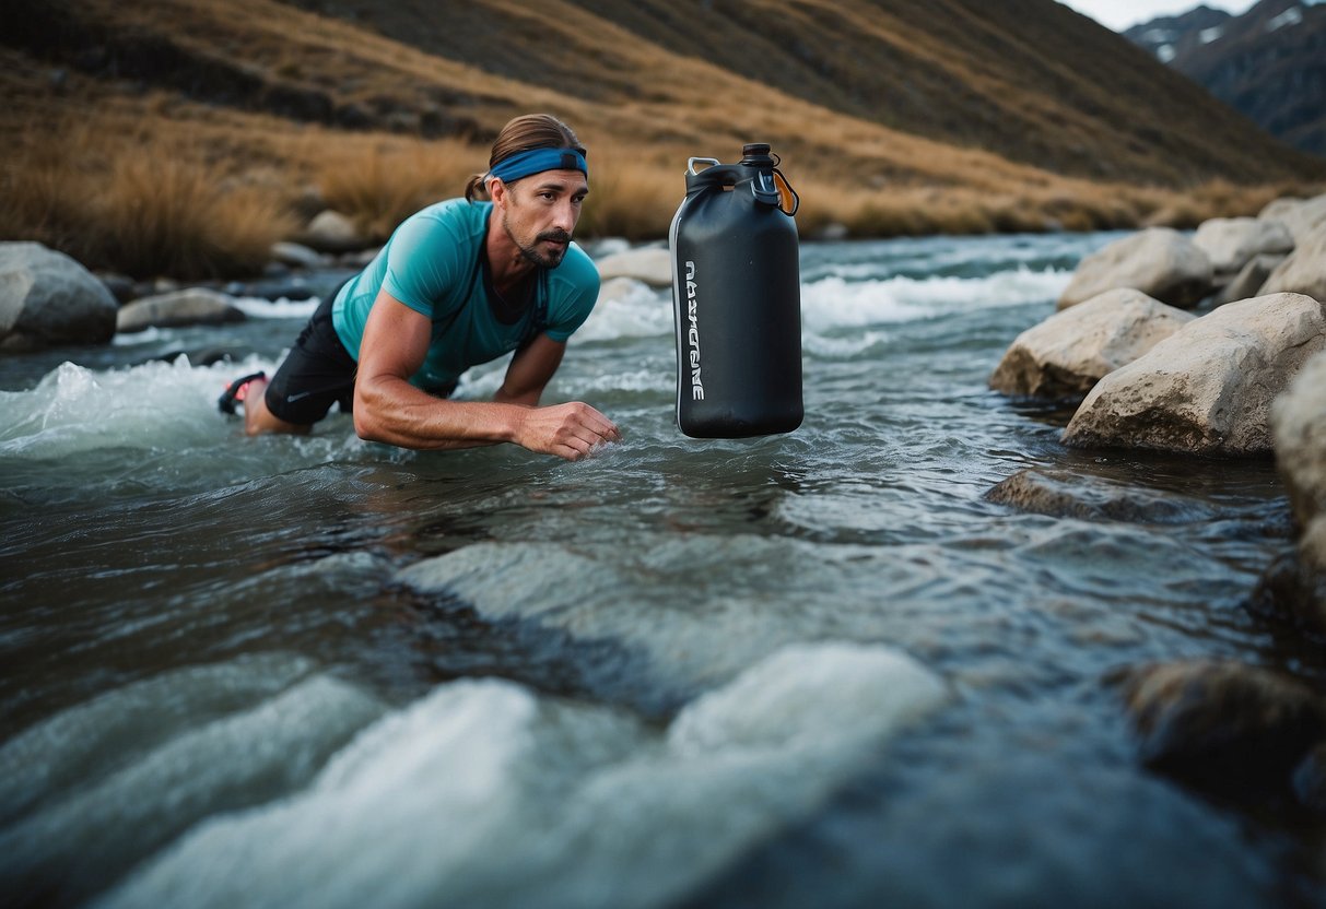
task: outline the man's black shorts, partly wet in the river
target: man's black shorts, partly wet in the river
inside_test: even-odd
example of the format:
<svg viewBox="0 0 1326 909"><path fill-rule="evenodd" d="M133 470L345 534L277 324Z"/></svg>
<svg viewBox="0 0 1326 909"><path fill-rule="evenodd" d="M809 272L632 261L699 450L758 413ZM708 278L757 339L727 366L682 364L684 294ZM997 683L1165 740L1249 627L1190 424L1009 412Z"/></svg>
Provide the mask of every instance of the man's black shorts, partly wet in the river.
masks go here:
<svg viewBox="0 0 1326 909"><path fill-rule="evenodd" d="M339 404L342 413L354 407L354 375L359 364L332 326L332 303L338 290L318 305L267 386L267 409L286 423L310 425L325 417L333 404Z"/></svg>

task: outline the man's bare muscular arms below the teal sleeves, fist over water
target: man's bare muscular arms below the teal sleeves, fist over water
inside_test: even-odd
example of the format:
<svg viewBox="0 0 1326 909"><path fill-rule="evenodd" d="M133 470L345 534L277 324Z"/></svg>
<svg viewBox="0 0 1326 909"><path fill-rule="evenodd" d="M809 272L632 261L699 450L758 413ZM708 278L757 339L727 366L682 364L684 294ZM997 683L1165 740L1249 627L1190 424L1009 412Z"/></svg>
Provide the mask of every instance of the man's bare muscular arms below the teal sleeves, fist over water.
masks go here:
<svg viewBox="0 0 1326 909"><path fill-rule="evenodd" d="M432 323L387 292L369 313L354 383L354 428L361 439L402 448L471 448L511 441L532 452L577 460L617 427L589 404L534 407L561 363L564 345L546 337L518 354L493 403L451 401L410 384L428 354Z"/></svg>

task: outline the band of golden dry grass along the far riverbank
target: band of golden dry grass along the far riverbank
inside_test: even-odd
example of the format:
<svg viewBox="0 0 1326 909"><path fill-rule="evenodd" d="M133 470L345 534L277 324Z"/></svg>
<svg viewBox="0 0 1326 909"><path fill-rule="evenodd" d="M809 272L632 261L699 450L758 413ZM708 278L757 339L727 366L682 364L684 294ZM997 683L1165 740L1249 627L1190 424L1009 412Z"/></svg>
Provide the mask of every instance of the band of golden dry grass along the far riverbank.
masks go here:
<svg viewBox="0 0 1326 909"><path fill-rule="evenodd" d="M459 195L487 156L485 147L459 139L294 129L271 119L245 130L249 121L233 113L227 114L233 123L195 115L187 103L155 97L118 113L107 105L78 121L21 125L0 159L0 239L38 240L90 268L135 277L244 277L260 272L272 244L297 236L322 205L383 240L423 205ZM684 195L684 155L671 146L586 139L591 192L578 235L666 237ZM1192 228L1322 189L1227 182L1139 188L1020 179L1025 172L981 186L882 174L847 182L802 160L786 155L784 171L801 193L797 221L808 237L830 225L853 237Z"/></svg>

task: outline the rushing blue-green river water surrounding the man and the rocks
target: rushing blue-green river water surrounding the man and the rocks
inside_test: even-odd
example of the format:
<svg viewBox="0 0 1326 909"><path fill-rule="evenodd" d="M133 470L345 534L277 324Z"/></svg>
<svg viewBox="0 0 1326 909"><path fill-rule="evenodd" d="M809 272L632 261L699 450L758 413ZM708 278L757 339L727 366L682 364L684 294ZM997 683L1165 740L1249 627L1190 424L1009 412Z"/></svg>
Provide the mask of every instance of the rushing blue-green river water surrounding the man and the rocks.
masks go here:
<svg viewBox="0 0 1326 909"><path fill-rule="evenodd" d="M623 428L578 464L245 439L216 396L312 301L0 360L0 902L1326 905L1321 828L1147 771L1109 682L1319 677L1244 608L1273 466L985 386L1111 239L805 244L760 440L680 436L668 294L606 298L545 398ZM985 501L1024 468L1175 508Z"/></svg>

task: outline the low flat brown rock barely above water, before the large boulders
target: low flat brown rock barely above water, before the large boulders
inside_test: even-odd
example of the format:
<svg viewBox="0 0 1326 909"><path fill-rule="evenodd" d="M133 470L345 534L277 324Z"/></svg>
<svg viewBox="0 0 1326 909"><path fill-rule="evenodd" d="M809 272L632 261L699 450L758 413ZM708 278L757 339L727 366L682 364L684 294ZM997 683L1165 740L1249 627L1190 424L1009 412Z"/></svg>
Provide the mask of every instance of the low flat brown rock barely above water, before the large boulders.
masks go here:
<svg viewBox="0 0 1326 909"><path fill-rule="evenodd" d="M1083 521L1175 523L1205 517L1209 509L1193 500L1160 496L1069 470L1026 469L1001 481L987 501L1020 511Z"/></svg>

